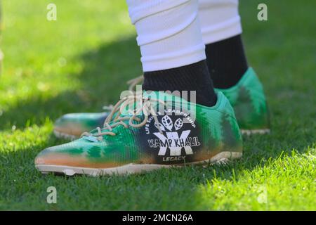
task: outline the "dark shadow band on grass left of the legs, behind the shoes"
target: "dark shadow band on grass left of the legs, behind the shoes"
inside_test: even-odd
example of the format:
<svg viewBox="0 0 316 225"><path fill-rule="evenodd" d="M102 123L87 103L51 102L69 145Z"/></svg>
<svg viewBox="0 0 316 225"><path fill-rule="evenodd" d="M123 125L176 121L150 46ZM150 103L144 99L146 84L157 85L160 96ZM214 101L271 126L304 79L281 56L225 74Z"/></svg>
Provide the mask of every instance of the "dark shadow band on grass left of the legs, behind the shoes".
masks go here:
<svg viewBox="0 0 316 225"><path fill-rule="evenodd" d="M140 53L135 37L127 37L104 44L78 58L84 65L73 79L79 80L82 89L65 91L52 98L37 96L20 101L0 116L0 129L23 129L27 125L41 126L49 117L55 120L65 113L98 112L105 104L116 103L126 81L140 75Z"/></svg>

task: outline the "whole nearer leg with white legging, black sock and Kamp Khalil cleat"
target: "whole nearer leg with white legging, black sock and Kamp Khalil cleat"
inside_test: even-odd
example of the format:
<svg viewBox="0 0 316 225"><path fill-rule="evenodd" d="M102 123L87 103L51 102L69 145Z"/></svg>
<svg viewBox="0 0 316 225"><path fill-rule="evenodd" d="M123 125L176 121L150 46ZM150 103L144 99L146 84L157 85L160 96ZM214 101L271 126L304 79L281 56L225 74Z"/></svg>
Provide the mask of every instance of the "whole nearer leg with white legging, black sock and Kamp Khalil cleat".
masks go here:
<svg viewBox="0 0 316 225"><path fill-rule="evenodd" d="M43 150L36 167L68 175L125 174L240 157L234 111L223 94L214 93L207 69L197 0L127 2L146 91L121 99L103 127ZM162 92L191 90L197 103Z"/></svg>

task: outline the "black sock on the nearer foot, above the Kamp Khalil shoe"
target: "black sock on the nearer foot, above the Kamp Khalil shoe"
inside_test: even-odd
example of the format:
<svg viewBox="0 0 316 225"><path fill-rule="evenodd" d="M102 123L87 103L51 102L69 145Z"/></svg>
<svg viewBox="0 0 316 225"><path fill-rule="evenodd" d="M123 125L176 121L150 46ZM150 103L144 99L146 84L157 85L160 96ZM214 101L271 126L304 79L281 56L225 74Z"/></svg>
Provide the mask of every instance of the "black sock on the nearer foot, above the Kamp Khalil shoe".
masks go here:
<svg viewBox="0 0 316 225"><path fill-rule="evenodd" d="M196 103L206 106L216 103L206 60L180 68L144 72L144 78L145 91L196 91ZM187 95L190 96L190 93Z"/></svg>

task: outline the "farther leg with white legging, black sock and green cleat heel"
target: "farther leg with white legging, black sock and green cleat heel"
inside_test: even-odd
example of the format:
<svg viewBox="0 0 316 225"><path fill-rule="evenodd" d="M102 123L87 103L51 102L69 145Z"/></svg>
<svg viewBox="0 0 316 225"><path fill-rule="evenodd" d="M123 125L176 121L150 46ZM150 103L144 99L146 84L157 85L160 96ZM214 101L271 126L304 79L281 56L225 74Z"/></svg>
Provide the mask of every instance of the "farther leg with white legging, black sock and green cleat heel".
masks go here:
<svg viewBox="0 0 316 225"><path fill-rule="evenodd" d="M199 0L199 19L213 85L230 99L241 129L268 131L263 87L246 62L238 0Z"/></svg>

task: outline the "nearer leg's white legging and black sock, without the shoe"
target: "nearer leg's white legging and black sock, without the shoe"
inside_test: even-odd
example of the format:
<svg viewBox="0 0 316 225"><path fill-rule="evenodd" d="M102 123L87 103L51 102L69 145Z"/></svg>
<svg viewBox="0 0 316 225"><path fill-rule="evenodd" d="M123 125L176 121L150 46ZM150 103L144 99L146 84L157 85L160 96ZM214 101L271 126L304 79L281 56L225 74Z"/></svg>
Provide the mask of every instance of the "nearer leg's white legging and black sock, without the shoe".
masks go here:
<svg viewBox="0 0 316 225"><path fill-rule="evenodd" d="M142 54L143 89L197 91L197 103L214 105L197 0L127 0L127 4Z"/></svg>

